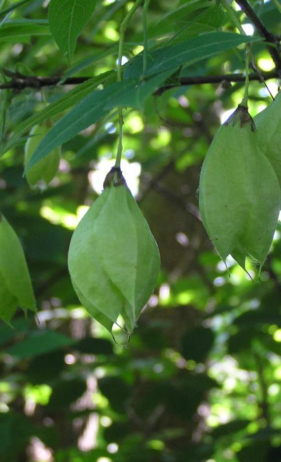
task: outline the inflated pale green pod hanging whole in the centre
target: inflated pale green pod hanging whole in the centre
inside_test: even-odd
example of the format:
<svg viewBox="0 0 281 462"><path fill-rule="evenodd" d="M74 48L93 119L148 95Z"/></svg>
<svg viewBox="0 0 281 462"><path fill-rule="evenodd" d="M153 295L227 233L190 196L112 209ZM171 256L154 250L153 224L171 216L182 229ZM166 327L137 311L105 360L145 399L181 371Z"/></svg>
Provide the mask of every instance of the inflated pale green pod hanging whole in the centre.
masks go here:
<svg viewBox="0 0 281 462"><path fill-rule="evenodd" d="M119 315L128 336L155 287L156 241L119 168L73 232L68 257L73 287L87 311L111 332Z"/></svg>

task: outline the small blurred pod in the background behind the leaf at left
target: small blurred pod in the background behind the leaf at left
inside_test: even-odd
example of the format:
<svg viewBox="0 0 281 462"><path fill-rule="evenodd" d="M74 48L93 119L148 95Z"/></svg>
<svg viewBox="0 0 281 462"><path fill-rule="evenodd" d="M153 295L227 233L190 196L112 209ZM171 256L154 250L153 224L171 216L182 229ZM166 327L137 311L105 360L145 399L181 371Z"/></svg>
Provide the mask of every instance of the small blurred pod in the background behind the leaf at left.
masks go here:
<svg viewBox="0 0 281 462"><path fill-rule="evenodd" d="M25 167L27 167L35 149L49 130L50 127L46 123L35 125L31 129L30 135L32 136L28 138L25 144ZM61 149L56 148L27 171L26 178L32 188L45 189L50 181L52 181L59 168L60 155Z"/></svg>

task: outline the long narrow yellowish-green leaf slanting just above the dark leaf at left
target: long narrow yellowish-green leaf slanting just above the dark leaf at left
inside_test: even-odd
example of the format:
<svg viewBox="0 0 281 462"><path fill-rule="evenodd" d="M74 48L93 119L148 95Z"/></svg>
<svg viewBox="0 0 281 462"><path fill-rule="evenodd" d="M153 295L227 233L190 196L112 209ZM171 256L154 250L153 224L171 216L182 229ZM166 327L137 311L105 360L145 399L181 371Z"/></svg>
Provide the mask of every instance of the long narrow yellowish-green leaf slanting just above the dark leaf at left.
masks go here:
<svg viewBox="0 0 281 462"><path fill-rule="evenodd" d="M58 114L66 111L74 104L78 103L81 99L91 93L100 83L104 82L105 79L112 74L112 71L105 72L100 74L97 77L93 77L87 80L80 85L77 85L73 90L70 90L67 94L59 98L54 103L49 104L45 109L40 111L39 113L35 113L33 116L29 117L27 120L24 120L20 123L14 131L14 134L11 136L9 141L2 149L2 153L4 154L9 151L14 146L25 141L22 139L24 133L30 130L34 125L37 125L44 120L47 120L51 117L57 116Z"/></svg>

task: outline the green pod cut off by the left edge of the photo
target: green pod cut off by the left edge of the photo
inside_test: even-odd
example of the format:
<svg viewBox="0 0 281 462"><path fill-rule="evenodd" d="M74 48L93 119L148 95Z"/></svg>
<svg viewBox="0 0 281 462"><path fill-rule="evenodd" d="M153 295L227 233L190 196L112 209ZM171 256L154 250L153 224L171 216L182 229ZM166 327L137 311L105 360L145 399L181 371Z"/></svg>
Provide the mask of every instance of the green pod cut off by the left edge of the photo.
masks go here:
<svg viewBox="0 0 281 462"><path fill-rule="evenodd" d="M36 310L22 246L0 213L0 318L9 322L17 308Z"/></svg>

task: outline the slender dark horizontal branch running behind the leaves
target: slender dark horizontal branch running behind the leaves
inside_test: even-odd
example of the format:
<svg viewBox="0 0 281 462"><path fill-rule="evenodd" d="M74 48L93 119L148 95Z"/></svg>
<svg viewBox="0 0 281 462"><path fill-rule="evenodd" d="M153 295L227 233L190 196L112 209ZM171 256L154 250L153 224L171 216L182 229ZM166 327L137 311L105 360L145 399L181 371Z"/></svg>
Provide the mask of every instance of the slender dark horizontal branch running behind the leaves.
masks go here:
<svg viewBox="0 0 281 462"><path fill-rule="evenodd" d="M5 72L7 75L7 72ZM12 89L21 91L25 88L40 89L44 86L54 85L77 85L89 80L92 77L69 77L66 80L61 81L62 77L36 77L36 76L24 76L18 73L10 73L12 79L7 83L0 84L0 90ZM278 78L278 71L263 72L261 76L258 73L249 74L249 80L264 80L270 78ZM181 85L202 85L205 83L223 83L223 82L245 82L244 74L221 74L215 76L192 76L192 77L181 77L179 82L175 85L166 85L159 87L154 94L161 95L164 91L170 88L178 87Z"/></svg>

